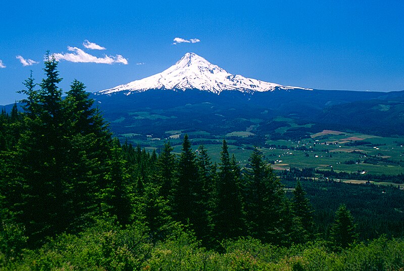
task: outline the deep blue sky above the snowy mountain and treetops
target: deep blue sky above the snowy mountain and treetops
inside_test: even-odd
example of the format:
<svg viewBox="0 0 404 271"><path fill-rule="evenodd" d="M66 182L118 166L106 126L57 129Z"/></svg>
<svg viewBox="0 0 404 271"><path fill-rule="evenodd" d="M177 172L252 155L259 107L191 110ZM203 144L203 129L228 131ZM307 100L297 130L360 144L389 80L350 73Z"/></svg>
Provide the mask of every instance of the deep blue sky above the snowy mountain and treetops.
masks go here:
<svg viewBox="0 0 404 271"><path fill-rule="evenodd" d="M22 98L30 70L42 79L46 50L61 57L65 91L141 79L186 52L282 85L404 90L403 14L403 1L2 1L0 104Z"/></svg>

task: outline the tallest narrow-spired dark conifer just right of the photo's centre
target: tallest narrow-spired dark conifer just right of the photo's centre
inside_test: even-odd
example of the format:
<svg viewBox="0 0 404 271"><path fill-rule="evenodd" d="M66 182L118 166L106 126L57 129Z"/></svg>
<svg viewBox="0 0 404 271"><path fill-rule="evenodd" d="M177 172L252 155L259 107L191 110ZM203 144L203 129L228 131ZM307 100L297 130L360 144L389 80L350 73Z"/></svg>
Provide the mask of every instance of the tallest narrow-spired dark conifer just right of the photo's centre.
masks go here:
<svg viewBox="0 0 404 271"><path fill-rule="evenodd" d="M230 159L225 140L216 188L214 224L218 240L236 238L244 234L244 214L238 174Z"/></svg>

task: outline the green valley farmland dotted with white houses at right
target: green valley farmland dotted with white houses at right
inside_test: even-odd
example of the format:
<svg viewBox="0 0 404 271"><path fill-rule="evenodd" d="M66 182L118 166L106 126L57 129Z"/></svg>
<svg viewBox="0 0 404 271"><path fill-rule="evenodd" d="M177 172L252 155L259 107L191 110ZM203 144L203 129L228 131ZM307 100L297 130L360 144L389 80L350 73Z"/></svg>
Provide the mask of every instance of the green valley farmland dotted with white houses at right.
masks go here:
<svg viewBox="0 0 404 271"><path fill-rule="evenodd" d="M349 143L366 140L370 144L349 146ZM318 135L313 139L300 141L267 141L267 145L287 146L289 149L263 149L268 160L274 164L282 164L282 168L315 167L317 169L331 169L336 171L358 172L365 171L372 174L399 174L404 168L399 162L404 160L404 147L397 145L402 139L381 138L360 133L340 133ZM376 145L376 146L375 146ZM292 150L305 147L307 150ZM365 156L366 155L366 156ZM377 164L363 163L366 157L376 156L380 160ZM282 161L282 162L279 162ZM354 161L348 164L348 161ZM358 163L356 161L359 161ZM394 163L396 164L394 164Z"/></svg>

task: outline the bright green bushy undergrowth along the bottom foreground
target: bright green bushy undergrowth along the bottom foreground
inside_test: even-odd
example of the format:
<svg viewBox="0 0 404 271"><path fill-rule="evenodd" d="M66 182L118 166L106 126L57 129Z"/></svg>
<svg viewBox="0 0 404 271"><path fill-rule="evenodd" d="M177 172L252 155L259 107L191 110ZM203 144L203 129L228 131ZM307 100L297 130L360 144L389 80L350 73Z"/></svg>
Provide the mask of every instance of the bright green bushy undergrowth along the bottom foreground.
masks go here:
<svg viewBox="0 0 404 271"><path fill-rule="evenodd" d="M380 237L333 251L327 242L280 247L245 237L207 250L176 227L153 243L141 225L99 220L78 235L62 234L20 259L0 255L2 270L403 270L404 240Z"/></svg>

